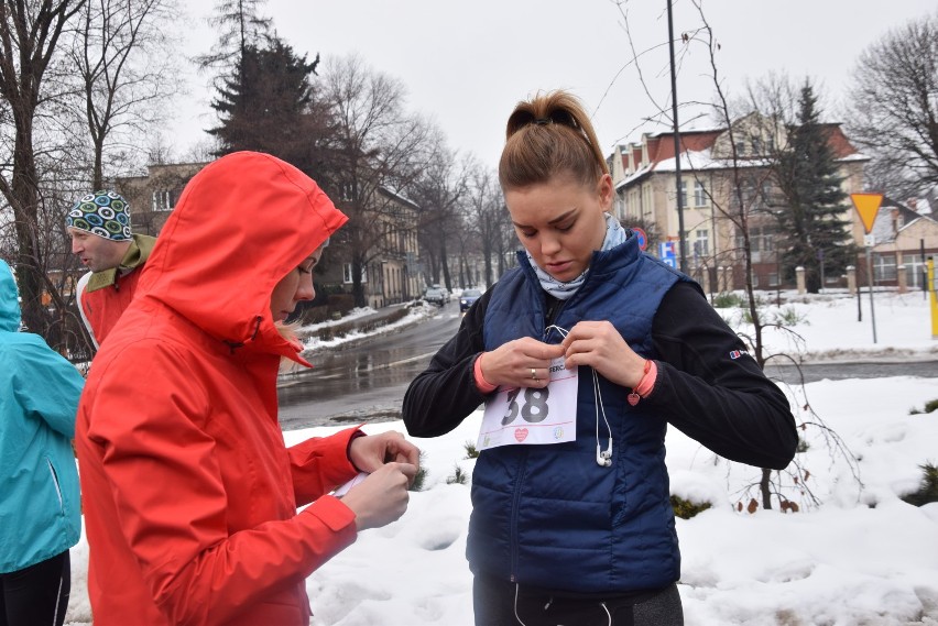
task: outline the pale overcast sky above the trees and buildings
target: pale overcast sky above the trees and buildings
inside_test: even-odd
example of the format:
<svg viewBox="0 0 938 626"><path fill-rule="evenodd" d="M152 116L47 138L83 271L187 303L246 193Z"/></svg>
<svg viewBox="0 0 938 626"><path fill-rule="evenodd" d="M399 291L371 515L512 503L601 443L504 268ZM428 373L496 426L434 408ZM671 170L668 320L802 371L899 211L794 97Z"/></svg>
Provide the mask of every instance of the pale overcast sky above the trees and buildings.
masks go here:
<svg viewBox="0 0 938 626"><path fill-rule="evenodd" d="M212 0L190 0L194 24L205 24ZM297 52L314 58L358 53L373 69L399 78L408 107L432 118L450 147L494 166L514 105L538 90L566 88L593 114L603 152L637 141L655 110L644 92L624 30L626 11L651 96L669 107L665 0L268 0L264 13ZM689 0L674 1L674 30L700 26ZM812 78L826 97L828 121L850 85L860 53L888 30L936 12L934 0L704 1L720 43L724 89L742 96L746 80L784 72ZM204 26L186 52L207 52L215 34ZM680 48L676 48L680 54ZM712 101L706 48L681 59L678 100ZM215 122L204 79L190 80L179 107L174 143L183 151ZM689 118L689 113L688 113Z"/></svg>

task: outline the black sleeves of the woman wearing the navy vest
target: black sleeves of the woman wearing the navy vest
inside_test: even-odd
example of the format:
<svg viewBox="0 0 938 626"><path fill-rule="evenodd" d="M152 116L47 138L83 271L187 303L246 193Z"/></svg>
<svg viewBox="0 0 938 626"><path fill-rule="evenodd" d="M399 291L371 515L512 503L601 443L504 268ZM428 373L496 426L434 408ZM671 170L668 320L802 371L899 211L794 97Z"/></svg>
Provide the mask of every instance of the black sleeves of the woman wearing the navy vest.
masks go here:
<svg viewBox="0 0 938 626"><path fill-rule="evenodd" d="M486 350L482 328L491 293L469 309L457 333L407 388L403 418L411 435L449 432L486 400L472 366ZM679 282L668 290L652 339L658 374L642 400L648 408L729 460L778 470L792 461L798 435L785 394L697 288Z"/></svg>

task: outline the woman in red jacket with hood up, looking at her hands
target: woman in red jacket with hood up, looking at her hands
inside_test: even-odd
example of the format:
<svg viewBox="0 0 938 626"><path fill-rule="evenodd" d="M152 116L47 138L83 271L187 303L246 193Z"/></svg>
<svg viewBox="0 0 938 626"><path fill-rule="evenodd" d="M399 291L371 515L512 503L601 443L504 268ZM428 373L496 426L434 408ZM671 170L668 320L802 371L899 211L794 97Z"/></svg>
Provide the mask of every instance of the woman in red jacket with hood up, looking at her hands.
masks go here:
<svg viewBox="0 0 938 626"><path fill-rule="evenodd" d="M308 365L277 322L346 220L270 155L187 185L78 409L96 626L308 624L310 572L404 513L418 451L400 435L287 449L277 422L281 359Z"/></svg>

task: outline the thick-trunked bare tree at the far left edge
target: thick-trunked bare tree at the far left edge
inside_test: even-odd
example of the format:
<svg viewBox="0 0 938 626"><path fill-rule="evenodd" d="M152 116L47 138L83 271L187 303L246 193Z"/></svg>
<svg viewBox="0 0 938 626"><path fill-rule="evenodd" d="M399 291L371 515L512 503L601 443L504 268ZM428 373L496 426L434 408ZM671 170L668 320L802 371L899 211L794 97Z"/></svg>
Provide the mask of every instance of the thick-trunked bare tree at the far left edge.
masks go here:
<svg viewBox="0 0 938 626"><path fill-rule="evenodd" d="M9 112L11 145L2 164L0 194L12 209L17 232L17 277L23 322L48 340L51 315L43 303L48 288L56 293L45 272L40 207L41 176L34 132L44 101L44 78L69 20L81 0L3 0L0 3L0 96ZM54 343L54 341L53 341Z"/></svg>

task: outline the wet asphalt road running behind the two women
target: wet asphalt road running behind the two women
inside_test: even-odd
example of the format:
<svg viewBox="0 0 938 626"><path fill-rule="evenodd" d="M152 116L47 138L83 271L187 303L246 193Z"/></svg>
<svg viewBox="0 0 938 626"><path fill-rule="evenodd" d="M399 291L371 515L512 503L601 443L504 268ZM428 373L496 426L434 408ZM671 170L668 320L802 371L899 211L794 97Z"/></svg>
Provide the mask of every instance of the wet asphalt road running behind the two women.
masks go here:
<svg viewBox="0 0 938 626"><path fill-rule="evenodd" d="M277 385L281 426L295 430L400 419L407 385L452 337L461 317L452 300L433 318L400 332L314 353L313 370L284 376ZM765 373L788 384L906 375L938 378L938 361L821 363L803 365L800 371L770 362Z"/></svg>

